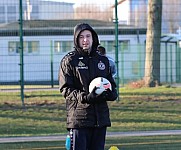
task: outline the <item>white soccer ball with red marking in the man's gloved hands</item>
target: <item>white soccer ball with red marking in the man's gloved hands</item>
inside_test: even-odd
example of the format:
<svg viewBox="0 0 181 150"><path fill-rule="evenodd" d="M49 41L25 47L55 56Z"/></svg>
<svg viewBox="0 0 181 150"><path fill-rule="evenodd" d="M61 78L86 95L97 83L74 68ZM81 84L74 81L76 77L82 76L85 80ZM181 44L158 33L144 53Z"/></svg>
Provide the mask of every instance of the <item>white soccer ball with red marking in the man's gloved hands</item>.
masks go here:
<svg viewBox="0 0 181 150"><path fill-rule="evenodd" d="M108 88L112 90L111 83L104 77L97 77L91 81L91 83L89 84L90 93L92 92L95 86L97 87L95 91L96 94L101 94L103 91L105 91L105 89Z"/></svg>

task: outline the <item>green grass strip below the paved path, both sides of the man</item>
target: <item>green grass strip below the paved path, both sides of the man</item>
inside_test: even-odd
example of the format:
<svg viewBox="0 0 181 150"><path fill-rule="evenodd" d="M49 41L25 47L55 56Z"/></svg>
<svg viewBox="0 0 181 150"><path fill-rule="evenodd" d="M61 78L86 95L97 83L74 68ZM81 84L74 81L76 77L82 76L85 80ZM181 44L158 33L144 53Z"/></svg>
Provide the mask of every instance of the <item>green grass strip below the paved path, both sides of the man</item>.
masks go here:
<svg viewBox="0 0 181 150"><path fill-rule="evenodd" d="M47 141L0 144L0 147L3 150L64 150L64 145L64 141ZM181 136L107 138L105 150L108 150L111 146L116 146L119 150L179 150L181 147Z"/></svg>

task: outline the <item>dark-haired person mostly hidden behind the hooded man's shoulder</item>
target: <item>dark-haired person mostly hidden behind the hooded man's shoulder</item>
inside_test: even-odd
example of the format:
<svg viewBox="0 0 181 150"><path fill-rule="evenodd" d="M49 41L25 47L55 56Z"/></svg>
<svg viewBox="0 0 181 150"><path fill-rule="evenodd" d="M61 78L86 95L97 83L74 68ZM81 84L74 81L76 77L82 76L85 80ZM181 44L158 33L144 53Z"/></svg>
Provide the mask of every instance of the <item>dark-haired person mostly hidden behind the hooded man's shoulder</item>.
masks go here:
<svg viewBox="0 0 181 150"><path fill-rule="evenodd" d="M101 55L106 56L106 49L103 46L99 45L97 49ZM113 58L111 58L109 56L106 56L106 57L109 59L109 66L111 69L112 76L113 76L113 78L116 78L117 71L116 71L115 61Z"/></svg>

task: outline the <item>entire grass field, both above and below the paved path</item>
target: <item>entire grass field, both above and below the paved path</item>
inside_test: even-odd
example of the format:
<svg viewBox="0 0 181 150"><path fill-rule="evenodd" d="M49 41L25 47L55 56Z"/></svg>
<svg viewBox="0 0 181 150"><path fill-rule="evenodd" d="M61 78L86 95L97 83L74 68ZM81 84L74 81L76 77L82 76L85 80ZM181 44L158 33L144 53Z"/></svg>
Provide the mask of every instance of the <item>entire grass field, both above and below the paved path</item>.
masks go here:
<svg viewBox="0 0 181 150"><path fill-rule="evenodd" d="M25 109L19 95L19 92L0 92L0 137L67 132L65 100L58 90L25 92ZM112 127L108 131L181 129L180 104L181 88L121 88L120 101L109 102ZM116 145L124 150L179 150L180 139L181 136L111 138L106 140L106 149ZM38 149L39 146L39 149L43 146L65 149L64 142L0 144L4 149L11 149L11 146L16 149Z"/></svg>

